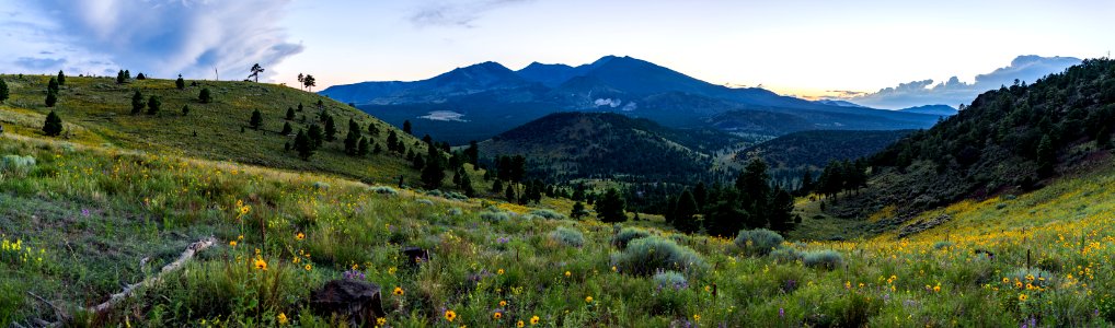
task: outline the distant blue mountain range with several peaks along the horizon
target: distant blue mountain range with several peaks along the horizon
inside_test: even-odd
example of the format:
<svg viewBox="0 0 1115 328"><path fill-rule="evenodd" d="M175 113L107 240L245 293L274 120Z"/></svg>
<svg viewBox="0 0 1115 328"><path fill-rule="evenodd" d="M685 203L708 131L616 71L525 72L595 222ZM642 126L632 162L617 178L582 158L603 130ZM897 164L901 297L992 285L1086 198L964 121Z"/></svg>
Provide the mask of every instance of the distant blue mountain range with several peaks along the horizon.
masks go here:
<svg viewBox="0 0 1115 328"><path fill-rule="evenodd" d="M483 62L421 81L333 86L320 93L356 103L395 125L410 120L416 133L457 145L484 140L558 111L618 112L670 128L769 136L808 129L921 129L940 116L808 101L760 88L728 88L614 56L578 67L535 62L518 71ZM767 121L753 122L748 117ZM778 126L778 120L794 121L797 128L764 127Z"/></svg>

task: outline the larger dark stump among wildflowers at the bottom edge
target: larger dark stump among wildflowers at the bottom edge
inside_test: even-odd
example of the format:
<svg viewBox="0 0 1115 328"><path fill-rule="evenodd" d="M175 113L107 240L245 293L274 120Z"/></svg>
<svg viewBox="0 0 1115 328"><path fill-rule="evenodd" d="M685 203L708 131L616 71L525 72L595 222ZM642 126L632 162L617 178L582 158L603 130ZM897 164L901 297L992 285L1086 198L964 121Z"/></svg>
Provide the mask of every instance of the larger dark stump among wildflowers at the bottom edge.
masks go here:
<svg viewBox="0 0 1115 328"><path fill-rule="evenodd" d="M310 308L321 317L343 316L349 324L371 327L376 318L384 318L379 286L350 279L337 279L310 292Z"/></svg>

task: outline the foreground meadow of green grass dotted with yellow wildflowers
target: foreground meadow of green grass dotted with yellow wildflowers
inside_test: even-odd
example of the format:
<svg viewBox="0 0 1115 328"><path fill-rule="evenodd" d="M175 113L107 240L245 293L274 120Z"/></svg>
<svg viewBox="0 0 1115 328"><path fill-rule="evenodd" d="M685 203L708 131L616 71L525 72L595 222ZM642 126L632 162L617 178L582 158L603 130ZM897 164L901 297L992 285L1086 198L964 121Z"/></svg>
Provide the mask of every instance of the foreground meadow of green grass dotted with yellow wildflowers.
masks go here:
<svg viewBox="0 0 1115 328"><path fill-rule="evenodd" d="M64 106L68 98L64 91ZM165 107L172 101L164 97ZM0 109L4 122L33 115L40 109ZM119 125L142 129L132 123L144 125ZM278 326L281 315L291 326L337 326L339 318L314 314L307 301L314 288L355 271L404 291L384 297L390 327L507 327L535 316L541 327L1115 322L1111 167L1031 193L921 213L910 222L952 219L903 239L898 227L843 235L811 226L866 220L806 219L799 236L817 238L791 235L798 242L748 257L734 240L677 233L658 218L623 227L527 219L537 208L389 192L347 173L229 162L196 155L200 147L167 150L169 138L139 141L115 132L116 123L81 125L89 132L68 141L18 123L6 123L0 136L0 158L35 159L19 175L0 172L0 326L55 320L31 294L67 309L99 304L209 236L221 245L183 270L104 316L78 314L70 324ZM368 170L391 170L382 165ZM543 206L565 213L571 203ZM493 209L506 218L485 218ZM613 245L629 228L627 235L650 237L632 238L626 249ZM827 241L828 232L844 240ZM579 247L559 241L566 235L580 236ZM411 262L400 254L407 246L430 250L429 260ZM841 265L813 268L811 256L838 256ZM258 261L268 269L255 269ZM447 311L456 315L452 322Z"/></svg>

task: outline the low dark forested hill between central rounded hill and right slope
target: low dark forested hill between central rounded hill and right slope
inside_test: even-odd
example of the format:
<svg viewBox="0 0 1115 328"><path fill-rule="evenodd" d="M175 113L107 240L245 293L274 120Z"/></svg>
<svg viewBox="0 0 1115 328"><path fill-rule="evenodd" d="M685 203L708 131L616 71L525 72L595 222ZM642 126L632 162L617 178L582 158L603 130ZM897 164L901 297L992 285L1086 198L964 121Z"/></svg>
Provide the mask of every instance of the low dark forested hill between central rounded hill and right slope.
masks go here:
<svg viewBox="0 0 1115 328"><path fill-rule="evenodd" d="M831 161L853 160L874 155L913 130L856 131L812 130L785 135L748 147L736 153L745 162L762 158L773 172L791 171L801 175L813 170L814 177Z"/></svg>

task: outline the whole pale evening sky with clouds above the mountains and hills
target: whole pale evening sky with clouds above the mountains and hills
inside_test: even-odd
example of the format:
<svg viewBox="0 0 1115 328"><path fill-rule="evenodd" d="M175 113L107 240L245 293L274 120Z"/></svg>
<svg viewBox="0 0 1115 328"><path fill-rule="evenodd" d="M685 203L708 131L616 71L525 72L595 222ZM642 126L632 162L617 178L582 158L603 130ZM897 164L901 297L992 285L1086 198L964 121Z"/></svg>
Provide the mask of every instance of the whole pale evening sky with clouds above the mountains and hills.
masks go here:
<svg viewBox="0 0 1115 328"><path fill-rule="evenodd" d="M227 80L259 62L262 80L310 73L321 90L617 54L717 85L895 108L917 102L903 90L1108 56L1112 17L1109 0L0 0L0 71ZM918 101L967 97L932 95Z"/></svg>

